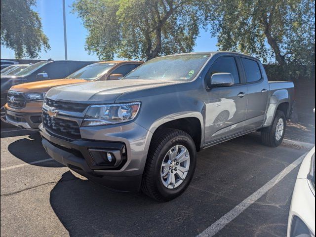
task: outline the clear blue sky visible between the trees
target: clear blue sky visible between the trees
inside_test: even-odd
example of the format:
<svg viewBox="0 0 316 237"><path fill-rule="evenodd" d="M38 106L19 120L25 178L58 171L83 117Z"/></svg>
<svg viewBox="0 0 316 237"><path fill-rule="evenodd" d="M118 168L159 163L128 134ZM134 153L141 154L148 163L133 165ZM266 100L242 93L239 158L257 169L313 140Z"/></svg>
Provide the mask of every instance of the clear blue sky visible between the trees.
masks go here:
<svg viewBox="0 0 316 237"><path fill-rule="evenodd" d="M98 61L96 55L89 55L84 50L87 30L77 14L72 13L72 3L75 0L66 0L66 29L67 29L67 53L68 60ZM64 60L64 26L62 0L37 0L37 6L33 9L39 12L42 19L44 34L49 39L50 50L40 52L40 59ZM196 40L195 52L216 51L217 40L211 38L208 32L200 30ZM14 59L14 51L1 45L1 58Z"/></svg>

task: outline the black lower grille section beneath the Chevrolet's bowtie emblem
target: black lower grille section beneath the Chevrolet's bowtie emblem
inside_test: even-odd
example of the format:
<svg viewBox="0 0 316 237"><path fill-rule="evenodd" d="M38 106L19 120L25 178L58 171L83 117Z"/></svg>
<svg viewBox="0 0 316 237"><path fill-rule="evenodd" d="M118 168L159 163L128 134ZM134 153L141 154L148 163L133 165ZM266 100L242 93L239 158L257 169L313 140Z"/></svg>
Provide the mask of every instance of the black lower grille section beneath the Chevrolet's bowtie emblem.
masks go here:
<svg viewBox="0 0 316 237"><path fill-rule="evenodd" d="M76 121L63 118L52 118L43 111L42 123L44 128L50 133L73 140L81 138L79 125Z"/></svg>

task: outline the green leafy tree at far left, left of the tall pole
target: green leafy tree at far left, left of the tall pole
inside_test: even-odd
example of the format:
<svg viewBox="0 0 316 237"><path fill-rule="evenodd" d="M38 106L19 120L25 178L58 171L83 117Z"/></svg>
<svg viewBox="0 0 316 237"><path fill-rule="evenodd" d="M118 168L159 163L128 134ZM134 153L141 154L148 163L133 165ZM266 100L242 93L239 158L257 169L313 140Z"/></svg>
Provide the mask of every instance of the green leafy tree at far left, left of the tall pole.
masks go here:
<svg viewBox="0 0 316 237"><path fill-rule="evenodd" d="M40 16L31 9L35 0L1 0L1 44L13 49L17 59L36 58L50 48Z"/></svg>

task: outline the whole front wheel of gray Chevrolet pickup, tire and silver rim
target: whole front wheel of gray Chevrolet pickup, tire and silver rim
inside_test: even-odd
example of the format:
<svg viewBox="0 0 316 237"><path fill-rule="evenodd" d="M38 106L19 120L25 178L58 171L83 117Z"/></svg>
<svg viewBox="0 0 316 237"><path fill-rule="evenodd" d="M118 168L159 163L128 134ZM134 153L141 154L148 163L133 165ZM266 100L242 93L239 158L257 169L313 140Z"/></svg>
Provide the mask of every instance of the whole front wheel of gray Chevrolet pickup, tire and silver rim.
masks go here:
<svg viewBox="0 0 316 237"><path fill-rule="evenodd" d="M196 146L181 130L166 129L150 147L142 191L158 201L180 196L189 186L196 166Z"/></svg>

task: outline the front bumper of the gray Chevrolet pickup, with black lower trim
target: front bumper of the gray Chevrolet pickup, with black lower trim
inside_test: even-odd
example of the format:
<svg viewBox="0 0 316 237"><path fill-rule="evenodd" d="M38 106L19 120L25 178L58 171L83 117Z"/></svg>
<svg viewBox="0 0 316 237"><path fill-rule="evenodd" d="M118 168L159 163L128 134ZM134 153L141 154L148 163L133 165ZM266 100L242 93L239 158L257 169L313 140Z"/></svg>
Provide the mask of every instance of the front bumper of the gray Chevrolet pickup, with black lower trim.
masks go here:
<svg viewBox="0 0 316 237"><path fill-rule="evenodd" d="M121 131L119 139L111 133L113 127L100 126L98 131L106 134L103 136L103 140L95 140L93 137L91 139L67 140L50 134L42 124L39 129L44 149L56 161L111 190L139 191L147 158L147 145L142 142L142 139L146 138L148 131L134 124L133 128L130 128L131 130L135 129L131 135L130 129L125 129L123 132L124 128L122 127L124 126L130 127L131 125L117 126L117 132ZM96 127L91 129L96 129ZM80 132L84 133L83 131ZM111 136L113 139L109 138ZM116 167L101 166L96 163L89 152L92 149L114 151L114 154L118 154L117 151L119 151L122 161Z"/></svg>

